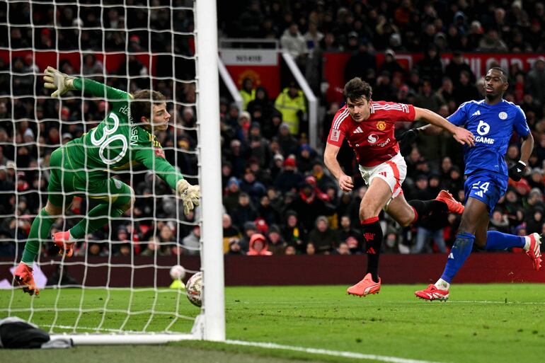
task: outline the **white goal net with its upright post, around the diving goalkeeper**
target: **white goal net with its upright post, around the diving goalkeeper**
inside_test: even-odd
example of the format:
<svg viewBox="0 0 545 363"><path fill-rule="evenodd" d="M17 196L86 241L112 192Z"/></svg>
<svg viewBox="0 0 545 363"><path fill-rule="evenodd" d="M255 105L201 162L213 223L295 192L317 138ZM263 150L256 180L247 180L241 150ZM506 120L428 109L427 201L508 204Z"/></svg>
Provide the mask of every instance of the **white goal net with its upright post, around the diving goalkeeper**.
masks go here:
<svg viewBox="0 0 545 363"><path fill-rule="evenodd" d="M0 4L0 318L19 316L76 344L224 340L215 8L210 0ZM52 152L92 132L113 107L82 91L53 98L43 86L48 66L128 93L163 93L171 118L166 131L154 132L163 147L155 152L199 184L202 199L185 215L171 187L147 168L108 168L105 178L134 190L134 207L110 217L110 206L105 226L87 231L71 258L42 241L33 266L40 295L28 296L13 271L47 202ZM81 179L88 185L88 176ZM86 192L62 198L65 212L51 234L101 204ZM185 267L183 281L203 272L201 308L171 278L174 265Z"/></svg>

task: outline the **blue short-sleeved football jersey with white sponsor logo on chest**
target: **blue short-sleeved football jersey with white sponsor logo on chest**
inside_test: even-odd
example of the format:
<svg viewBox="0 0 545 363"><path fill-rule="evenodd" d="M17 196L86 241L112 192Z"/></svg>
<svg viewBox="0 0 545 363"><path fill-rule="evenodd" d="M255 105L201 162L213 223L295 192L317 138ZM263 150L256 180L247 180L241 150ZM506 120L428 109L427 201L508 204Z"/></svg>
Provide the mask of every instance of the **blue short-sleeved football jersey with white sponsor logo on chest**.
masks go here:
<svg viewBox="0 0 545 363"><path fill-rule="evenodd" d="M466 175L478 169L507 175L505 153L513 132L519 137L530 132L524 111L506 100L495 105L471 100L462 103L447 119L475 135L475 146L464 146Z"/></svg>

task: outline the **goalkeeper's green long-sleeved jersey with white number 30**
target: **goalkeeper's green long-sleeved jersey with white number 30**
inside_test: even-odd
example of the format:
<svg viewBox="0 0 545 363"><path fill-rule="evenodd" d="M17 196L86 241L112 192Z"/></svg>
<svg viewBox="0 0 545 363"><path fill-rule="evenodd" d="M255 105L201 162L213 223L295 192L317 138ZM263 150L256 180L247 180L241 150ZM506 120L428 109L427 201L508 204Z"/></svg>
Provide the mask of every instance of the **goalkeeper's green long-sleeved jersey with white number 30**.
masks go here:
<svg viewBox="0 0 545 363"><path fill-rule="evenodd" d="M130 122L130 94L91 79L76 78L74 87L108 99L113 107L103 122L63 146L69 167L81 171L84 180L89 180L105 178L108 171L144 165L176 189L176 183L183 176L166 161L155 135Z"/></svg>

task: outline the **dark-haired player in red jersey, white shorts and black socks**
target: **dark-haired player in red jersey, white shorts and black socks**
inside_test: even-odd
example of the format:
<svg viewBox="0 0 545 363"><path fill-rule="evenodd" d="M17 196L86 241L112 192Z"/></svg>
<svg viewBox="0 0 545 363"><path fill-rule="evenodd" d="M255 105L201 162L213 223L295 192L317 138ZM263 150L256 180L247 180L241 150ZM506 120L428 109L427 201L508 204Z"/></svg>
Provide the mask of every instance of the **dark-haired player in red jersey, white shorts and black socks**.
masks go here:
<svg viewBox="0 0 545 363"><path fill-rule="evenodd" d="M407 166L399 153L394 137L398 121L413 122L423 119L446 129L460 144L474 146L474 135L468 130L452 125L440 115L413 105L371 100L372 88L360 78L346 83L343 96L346 105L333 117L326 152L323 156L327 168L338 180L341 190L353 188L352 178L346 175L337 161L344 139L352 146L360 164L360 173L369 185L360 204L360 223L366 243L367 272L363 280L348 288L348 294L366 296L380 290L378 276L382 229L379 213L384 209L401 226L413 224L430 214L442 212L461 213L464 207L442 190L435 200L407 202L401 191Z"/></svg>

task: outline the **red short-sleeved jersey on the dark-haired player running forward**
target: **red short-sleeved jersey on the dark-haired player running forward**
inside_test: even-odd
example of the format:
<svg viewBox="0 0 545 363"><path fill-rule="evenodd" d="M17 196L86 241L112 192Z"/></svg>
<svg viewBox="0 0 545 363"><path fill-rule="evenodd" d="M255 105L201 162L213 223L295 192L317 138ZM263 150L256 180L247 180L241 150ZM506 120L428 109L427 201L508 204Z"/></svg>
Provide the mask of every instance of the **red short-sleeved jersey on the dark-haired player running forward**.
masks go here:
<svg viewBox="0 0 545 363"><path fill-rule="evenodd" d="M404 103L370 101L371 114L367 120L352 120L346 105L337 111L329 130L328 143L340 146L346 138L356 153L357 162L369 167L388 161L399 152L394 137L398 121L413 122L415 108Z"/></svg>

